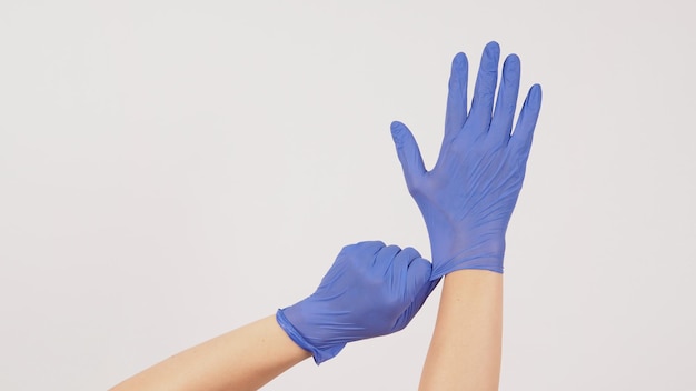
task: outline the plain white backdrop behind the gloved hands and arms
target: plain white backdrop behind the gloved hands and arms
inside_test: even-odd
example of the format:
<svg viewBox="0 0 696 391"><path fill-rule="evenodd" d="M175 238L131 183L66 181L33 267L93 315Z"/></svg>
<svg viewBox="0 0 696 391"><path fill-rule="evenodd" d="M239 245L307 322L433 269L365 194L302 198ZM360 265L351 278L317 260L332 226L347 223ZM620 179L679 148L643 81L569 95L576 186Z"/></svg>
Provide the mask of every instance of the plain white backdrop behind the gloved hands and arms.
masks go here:
<svg viewBox="0 0 696 391"><path fill-rule="evenodd" d="M437 157L451 58L518 53L541 117L508 230L501 390L694 390L688 1L0 3L0 389L105 390L314 291L361 240L429 257L389 123ZM404 331L268 390L415 390Z"/></svg>

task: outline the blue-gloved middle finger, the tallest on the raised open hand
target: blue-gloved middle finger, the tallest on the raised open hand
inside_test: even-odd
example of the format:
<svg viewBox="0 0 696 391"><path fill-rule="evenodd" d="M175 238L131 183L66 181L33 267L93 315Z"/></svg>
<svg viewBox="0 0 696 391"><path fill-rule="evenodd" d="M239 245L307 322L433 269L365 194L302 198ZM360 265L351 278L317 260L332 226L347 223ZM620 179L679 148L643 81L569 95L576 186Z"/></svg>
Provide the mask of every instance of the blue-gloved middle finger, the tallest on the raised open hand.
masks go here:
<svg viewBox="0 0 696 391"><path fill-rule="evenodd" d="M466 120L465 129L477 133L485 133L490 126L490 114L493 112L493 100L498 82L498 62L500 60L500 47L497 42L489 42L484 48L481 62L474 87L474 99L471 100L471 111ZM478 134L476 134L478 136Z"/></svg>

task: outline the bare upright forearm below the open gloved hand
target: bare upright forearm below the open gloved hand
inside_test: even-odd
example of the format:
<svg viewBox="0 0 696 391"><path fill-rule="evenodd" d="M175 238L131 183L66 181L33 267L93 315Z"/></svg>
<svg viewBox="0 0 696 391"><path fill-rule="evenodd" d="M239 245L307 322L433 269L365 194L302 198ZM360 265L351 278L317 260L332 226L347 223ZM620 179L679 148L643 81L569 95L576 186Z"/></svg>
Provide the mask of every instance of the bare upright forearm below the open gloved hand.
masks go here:
<svg viewBox="0 0 696 391"><path fill-rule="evenodd" d="M503 274L447 274L419 390L497 390L501 337Z"/></svg>

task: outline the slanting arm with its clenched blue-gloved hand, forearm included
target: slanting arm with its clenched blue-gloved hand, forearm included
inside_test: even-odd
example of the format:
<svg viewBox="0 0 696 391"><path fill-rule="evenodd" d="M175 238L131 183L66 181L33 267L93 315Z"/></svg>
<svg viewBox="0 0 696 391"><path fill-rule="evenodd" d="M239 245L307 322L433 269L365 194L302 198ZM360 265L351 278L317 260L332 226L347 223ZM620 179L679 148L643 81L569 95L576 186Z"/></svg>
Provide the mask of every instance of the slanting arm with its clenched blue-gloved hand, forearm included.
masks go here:
<svg viewBox="0 0 696 391"><path fill-rule="evenodd" d="M435 288L430 262L380 241L346 245L311 295L276 315L211 339L111 391L258 390L315 354L404 329Z"/></svg>

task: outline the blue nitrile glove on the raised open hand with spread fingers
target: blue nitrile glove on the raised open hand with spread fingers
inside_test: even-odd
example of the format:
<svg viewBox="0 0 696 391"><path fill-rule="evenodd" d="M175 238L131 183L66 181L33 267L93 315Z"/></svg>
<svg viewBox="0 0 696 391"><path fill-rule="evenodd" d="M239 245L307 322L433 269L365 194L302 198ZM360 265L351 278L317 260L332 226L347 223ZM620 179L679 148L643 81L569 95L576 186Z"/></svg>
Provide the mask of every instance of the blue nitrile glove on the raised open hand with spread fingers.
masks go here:
<svg viewBox="0 0 696 391"><path fill-rule="evenodd" d="M467 58L455 56L445 137L431 171L426 171L410 130L391 123L406 184L428 228L431 279L461 269L503 272L505 231L525 178L541 88L529 90L513 132L519 58L510 54L505 60L494 111L499 58L498 44L488 43L467 113Z"/></svg>

